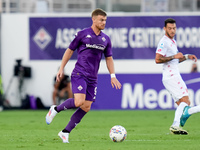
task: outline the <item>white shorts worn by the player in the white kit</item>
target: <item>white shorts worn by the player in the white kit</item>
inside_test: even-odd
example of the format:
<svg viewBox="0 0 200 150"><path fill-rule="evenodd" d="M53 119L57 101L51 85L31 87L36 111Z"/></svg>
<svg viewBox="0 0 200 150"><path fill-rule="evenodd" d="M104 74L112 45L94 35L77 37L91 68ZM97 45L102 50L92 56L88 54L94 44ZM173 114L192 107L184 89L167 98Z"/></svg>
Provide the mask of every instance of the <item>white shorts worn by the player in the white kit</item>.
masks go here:
<svg viewBox="0 0 200 150"><path fill-rule="evenodd" d="M184 96L189 96L187 86L181 76L174 76L171 79L163 80L163 84L175 102Z"/></svg>

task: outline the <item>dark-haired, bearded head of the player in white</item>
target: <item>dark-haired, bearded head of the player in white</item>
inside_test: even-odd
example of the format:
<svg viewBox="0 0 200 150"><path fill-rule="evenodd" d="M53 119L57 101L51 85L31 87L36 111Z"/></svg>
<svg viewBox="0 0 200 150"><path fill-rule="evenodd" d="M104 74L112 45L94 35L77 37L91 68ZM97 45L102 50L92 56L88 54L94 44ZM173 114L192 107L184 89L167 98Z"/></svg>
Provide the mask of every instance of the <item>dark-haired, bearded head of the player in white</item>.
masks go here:
<svg viewBox="0 0 200 150"><path fill-rule="evenodd" d="M173 39L176 34L176 20L168 18L165 20L165 35Z"/></svg>

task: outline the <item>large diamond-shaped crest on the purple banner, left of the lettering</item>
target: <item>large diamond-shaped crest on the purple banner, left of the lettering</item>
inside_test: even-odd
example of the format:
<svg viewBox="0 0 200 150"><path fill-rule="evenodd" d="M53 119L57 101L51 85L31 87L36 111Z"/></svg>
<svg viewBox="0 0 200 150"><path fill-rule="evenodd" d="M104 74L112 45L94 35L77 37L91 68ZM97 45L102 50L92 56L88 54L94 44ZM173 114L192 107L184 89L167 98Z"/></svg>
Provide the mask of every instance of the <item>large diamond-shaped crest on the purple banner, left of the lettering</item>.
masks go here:
<svg viewBox="0 0 200 150"><path fill-rule="evenodd" d="M51 35L45 30L44 27L41 27L33 37L33 41L40 47L41 50L44 50L51 40Z"/></svg>

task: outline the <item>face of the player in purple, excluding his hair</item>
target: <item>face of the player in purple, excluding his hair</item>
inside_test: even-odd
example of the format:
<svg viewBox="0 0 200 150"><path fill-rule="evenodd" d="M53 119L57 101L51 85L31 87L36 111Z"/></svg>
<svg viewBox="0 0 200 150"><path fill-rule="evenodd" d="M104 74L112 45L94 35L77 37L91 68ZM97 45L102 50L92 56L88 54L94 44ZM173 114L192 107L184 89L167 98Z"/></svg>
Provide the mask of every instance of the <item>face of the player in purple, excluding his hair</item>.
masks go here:
<svg viewBox="0 0 200 150"><path fill-rule="evenodd" d="M106 16L98 15L94 16L93 23L96 26L96 28L98 28L99 30L103 30L106 25L106 20L107 20Z"/></svg>

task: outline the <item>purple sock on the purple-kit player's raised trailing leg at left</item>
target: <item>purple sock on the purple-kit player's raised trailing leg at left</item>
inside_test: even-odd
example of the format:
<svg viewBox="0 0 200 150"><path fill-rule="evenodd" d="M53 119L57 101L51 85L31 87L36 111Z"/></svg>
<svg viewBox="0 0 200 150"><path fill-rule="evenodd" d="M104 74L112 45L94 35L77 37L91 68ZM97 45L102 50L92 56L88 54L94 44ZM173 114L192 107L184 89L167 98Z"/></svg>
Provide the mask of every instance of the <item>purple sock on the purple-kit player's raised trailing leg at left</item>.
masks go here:
<svg viewBox="0 0 200 150"><path fill-rule="evenodd" d="M57 111L60 112L65 109L73 109L73 108L76 108L74 104L74 98L69 98L65 100L62 104L57 106Z"/></svg>

